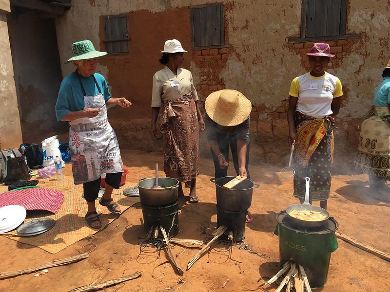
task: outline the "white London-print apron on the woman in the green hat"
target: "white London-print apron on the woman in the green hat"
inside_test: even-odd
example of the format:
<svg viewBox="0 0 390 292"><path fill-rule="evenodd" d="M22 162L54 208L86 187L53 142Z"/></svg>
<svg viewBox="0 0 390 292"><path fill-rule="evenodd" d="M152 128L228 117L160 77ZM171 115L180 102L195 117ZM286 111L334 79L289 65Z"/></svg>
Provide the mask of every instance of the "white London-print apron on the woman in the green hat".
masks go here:
<svg viewBox="0 0 390 292"><path fill-rule="evenodd" d="M101 92L99 87L98 90ZM100 108L101 111L94 118L70 122L69 146L75 184L95 181L102 173L123 171L117 136L108 122L103 94L85 95L84 104L84 109Z"/></svg>

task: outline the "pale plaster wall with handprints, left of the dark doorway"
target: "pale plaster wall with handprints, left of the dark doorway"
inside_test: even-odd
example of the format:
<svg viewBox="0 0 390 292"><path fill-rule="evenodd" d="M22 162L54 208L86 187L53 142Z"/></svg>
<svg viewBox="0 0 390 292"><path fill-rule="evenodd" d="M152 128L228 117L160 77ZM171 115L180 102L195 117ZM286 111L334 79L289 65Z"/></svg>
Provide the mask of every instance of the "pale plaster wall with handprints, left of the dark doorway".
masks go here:
<svg viewBox="0 0 390 292"><path fill-rule="evenodd" d="M8 37L9 1L0 1L0 149L17 148L21 139L18 99Z"/></svg>

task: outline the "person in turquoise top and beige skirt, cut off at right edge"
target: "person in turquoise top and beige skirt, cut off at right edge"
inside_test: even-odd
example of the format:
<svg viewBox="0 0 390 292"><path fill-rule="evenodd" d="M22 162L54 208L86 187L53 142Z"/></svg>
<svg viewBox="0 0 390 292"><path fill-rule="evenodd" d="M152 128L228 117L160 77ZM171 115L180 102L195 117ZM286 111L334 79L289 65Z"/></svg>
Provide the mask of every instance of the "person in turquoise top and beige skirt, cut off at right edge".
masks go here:
<svg viewBox="0 0 390 292"><path fill-rule="evenodd" d="M372 110L360 130L355 167L367 173L370 189L385 191L390 188L390 60L382 72L382 81L375 88Z"/></svg>

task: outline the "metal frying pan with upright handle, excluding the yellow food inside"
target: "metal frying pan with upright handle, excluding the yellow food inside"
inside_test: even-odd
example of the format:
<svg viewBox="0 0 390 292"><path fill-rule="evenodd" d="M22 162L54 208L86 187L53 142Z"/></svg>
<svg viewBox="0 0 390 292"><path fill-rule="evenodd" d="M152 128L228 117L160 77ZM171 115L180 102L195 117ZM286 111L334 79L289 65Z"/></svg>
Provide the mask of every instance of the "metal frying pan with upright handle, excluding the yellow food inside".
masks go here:
<svg viewBox="0 0 390 292"><path fill-rule="evenodd" d="M291 206L288 206L286 208L286 213L289 216L292 223L296 226L302 226L302 227L309 227L309 228L316 228L321 227L325 224L325 222L329 219L330 214L327 210L321 207L312 206L309 201L309 186L310 186L310 178L306 178L306 193L305 193L305 201L303 204L294 204ZM295 217L292 217L290 213L294 210L304 210L304 211L315 211L320 212L321 214L326 216L326 219L320 220L320 221L308 221L308 220L302 220L297 219Z"/></svg>

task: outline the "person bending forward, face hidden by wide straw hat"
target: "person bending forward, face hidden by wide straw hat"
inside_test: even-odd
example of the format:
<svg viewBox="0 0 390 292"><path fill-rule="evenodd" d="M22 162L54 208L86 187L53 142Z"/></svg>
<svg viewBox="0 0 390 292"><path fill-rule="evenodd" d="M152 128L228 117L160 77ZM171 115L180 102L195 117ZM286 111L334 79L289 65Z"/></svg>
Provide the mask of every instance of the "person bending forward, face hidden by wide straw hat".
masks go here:
<svg viewBox="0 0 390 292"><path fill-rule="evenodd" d="M251 101L239 91L225 89L211 93L206 98L205 109L207 140L214 161L215 178L227 176L230 148L236 174L250 179ZM252 220L248 212L247 222Z"/></svg>

